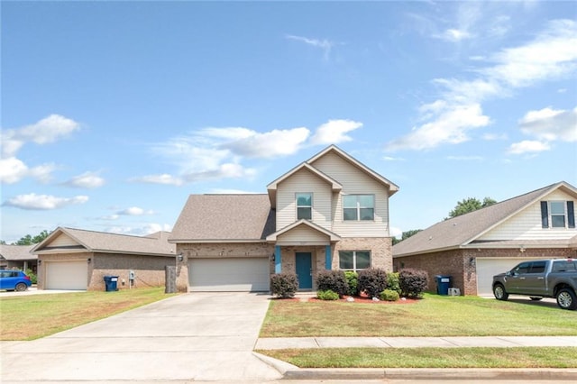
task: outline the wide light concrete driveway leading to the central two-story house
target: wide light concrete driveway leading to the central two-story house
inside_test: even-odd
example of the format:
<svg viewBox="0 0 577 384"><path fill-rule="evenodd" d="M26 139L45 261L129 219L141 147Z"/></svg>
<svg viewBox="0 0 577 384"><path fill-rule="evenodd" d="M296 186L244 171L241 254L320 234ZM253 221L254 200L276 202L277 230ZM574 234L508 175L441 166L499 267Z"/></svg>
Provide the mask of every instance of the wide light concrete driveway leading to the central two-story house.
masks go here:
<svg viewBox="0 0 577 384"><path fill-rule="evenodd" d="M2 343L2 382L279 379L252 353L268 298L190 293L32 342Z"/></svg>

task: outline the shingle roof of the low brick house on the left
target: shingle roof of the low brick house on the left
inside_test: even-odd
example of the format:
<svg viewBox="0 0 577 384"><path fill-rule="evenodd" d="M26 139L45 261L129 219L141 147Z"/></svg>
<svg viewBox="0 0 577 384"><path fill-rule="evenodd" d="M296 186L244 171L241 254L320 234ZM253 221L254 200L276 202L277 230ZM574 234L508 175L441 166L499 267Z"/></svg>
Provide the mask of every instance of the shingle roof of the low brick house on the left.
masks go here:
<svg viewBox="0 0 577 384"><path fill-rule="evenodd" d="M50 236L38 244L33 251L49 251L50 242L61 233L69 235L87 251L174 255L174 245L169 244L167 236L160 234L155 237L140 237L62 227L50 233Z"/></svg>

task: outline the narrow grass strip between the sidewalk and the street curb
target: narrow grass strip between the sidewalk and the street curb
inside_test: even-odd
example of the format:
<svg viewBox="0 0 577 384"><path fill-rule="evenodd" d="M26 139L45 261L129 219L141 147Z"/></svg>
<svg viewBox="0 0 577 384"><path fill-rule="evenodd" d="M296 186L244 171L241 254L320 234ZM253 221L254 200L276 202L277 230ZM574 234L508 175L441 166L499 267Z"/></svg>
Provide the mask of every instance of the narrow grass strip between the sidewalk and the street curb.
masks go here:
<svg viewBox="0 0 577 384"><path fill-rule="evenodd" d="M577 368L577 347L324 348L256 351L299 368Z"/></svg>

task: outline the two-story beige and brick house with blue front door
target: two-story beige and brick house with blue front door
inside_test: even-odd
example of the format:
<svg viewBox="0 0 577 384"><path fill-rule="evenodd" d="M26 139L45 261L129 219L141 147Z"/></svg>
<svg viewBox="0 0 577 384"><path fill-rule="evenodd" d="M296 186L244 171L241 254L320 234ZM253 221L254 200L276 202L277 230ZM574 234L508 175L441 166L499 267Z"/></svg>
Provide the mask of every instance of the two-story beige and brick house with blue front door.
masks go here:
<svg viewBox="0 0 577 384"><path fill-rule="evenodd" d="M315 289L321 270L392 270L389 197L398 187L335 147L272 181L268 194L191 195L169 242L178 288L268 291L292 272Z"/></svg>

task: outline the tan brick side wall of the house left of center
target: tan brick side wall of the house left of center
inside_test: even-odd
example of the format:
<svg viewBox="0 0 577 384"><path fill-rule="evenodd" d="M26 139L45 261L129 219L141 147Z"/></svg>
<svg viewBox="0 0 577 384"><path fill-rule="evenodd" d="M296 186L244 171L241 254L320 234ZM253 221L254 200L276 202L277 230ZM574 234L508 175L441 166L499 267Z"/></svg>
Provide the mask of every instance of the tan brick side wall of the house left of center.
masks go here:
<svg viewBox="0 0 577 384"><path fill-rule="evenodd" d="M117 276L117 288L164 287L166 266L174 266L174 256L96 253L90 263L88 290L105 290L105 276ZM129 279L129 272L134 279Z"/></svg>

